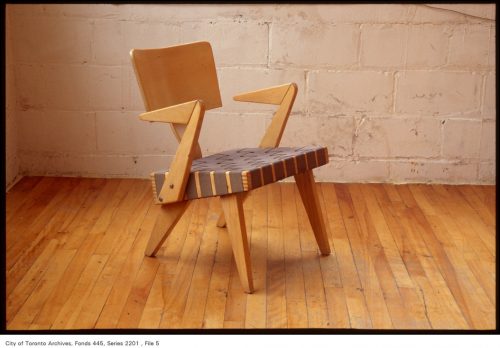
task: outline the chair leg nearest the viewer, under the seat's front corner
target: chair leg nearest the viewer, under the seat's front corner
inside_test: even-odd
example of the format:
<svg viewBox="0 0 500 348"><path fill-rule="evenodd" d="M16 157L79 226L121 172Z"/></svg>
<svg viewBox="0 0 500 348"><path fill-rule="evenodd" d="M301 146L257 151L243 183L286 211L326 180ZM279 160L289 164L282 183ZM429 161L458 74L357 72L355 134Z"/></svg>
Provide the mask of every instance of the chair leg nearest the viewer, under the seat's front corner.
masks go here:
<svg viewBox="0 0 500 348"><path fill-rule="evenodd" d="M240 276L243 290L253 292L252 267L248 248L245 217L243 215L243 195L232 194L221 196L222 210L227 218L227 231L233 247L236 268Z"/></svg>

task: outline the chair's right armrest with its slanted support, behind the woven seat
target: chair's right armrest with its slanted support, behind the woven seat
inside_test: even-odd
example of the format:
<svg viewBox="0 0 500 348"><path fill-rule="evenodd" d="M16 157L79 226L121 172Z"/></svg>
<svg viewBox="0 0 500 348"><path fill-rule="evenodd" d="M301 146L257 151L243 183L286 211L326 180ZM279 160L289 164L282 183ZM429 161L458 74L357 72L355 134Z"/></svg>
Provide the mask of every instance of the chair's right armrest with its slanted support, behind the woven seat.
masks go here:
<svg viewBox="0 0 500 348"><path fill-rule="evenodd" d="M279 146L296 95L297 85L292 82L285 85L239 94L233 97L236 101L279 105L271 124L267 127L266 133L260 141L260 147Z"/></svg>

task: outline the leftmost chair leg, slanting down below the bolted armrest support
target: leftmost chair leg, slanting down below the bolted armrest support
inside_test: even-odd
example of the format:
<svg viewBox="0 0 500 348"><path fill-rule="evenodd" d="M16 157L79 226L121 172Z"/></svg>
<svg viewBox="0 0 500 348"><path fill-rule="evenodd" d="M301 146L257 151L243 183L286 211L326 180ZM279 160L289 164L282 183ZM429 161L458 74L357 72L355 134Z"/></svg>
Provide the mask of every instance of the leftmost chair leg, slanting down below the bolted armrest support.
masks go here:
<svg viewBox="0 0 500 348"><path fill-rule="evenodd" d="M163 242L174 229L177 221L181 218L189 205L189 201L164 204L160 206L160 212L156 218L155 226L149 237L146 247L146 256L155 256L160 250Z"/></svg>

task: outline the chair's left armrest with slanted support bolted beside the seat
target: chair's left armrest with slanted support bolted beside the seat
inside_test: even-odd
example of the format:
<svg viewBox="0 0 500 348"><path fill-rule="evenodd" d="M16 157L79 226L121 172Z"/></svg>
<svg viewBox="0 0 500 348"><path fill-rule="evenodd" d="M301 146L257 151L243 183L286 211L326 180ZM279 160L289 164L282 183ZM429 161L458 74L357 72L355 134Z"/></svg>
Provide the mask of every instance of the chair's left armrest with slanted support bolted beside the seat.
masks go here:
<svg viewBox="0 0 500 348"><path fill-rule="evenodd" d="M179 135L179 147L175 152L170 169L165 173L165 181L158 195L157 203L166 204L183 200L191 171L191 164L194 159L201 157L198 138L204 115L205 105L203 101L194 100L149 111L139 116L144 121L180 123L185 125L182 136Z"/></svg>

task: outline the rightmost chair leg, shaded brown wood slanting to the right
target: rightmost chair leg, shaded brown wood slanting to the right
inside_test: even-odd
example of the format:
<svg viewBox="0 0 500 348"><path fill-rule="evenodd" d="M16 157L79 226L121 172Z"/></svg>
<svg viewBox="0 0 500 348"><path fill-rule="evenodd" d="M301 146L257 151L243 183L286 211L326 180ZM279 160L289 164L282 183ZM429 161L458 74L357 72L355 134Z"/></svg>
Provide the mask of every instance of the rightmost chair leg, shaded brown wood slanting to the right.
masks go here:
<svg viewBox="0 0 500 348"><path fill-rule="evenodd" d="M305 173L296 174L295 182L302 198L302 203L307 211L309 222L314 232L314 237L318 243L322 255L330 255L330 244L328 243L328 233L326 231L325 220L321 212L318 192L312 170Z"/></svg>

